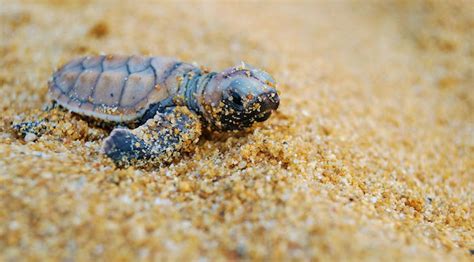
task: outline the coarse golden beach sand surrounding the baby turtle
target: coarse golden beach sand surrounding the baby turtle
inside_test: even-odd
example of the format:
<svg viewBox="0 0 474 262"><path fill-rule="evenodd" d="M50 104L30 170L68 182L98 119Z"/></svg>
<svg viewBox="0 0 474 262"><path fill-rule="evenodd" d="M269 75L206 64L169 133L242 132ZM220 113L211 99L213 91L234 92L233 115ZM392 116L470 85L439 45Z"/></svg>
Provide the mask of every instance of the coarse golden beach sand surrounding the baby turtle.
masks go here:
<svg viewBox="0 0 474 262"><path fill-rule="evenodd" d="M0 0L0 260L472 261L474 2ZM152 54L279 83L264 124L117 170L77 116L36 142L47 80Z"/></svg>

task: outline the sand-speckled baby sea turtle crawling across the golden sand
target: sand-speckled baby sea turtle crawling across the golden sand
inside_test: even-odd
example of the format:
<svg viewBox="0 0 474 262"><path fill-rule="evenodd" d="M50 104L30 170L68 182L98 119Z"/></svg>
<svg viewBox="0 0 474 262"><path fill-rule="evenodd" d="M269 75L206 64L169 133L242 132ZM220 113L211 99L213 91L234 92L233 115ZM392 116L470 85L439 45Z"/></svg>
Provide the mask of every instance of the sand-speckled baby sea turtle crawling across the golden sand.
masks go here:
<svg viewBox="0 0 474 262"><path fill-rule="evenodd" d="M243 63L216 73L145 56L72 60L53 74L49 94L71 112L115 123L103 152L121 167L169 161L197 142L201 126L241 130L268 119L280 102L274 79ZM38 125L14 128L25 134Z"/></svg>

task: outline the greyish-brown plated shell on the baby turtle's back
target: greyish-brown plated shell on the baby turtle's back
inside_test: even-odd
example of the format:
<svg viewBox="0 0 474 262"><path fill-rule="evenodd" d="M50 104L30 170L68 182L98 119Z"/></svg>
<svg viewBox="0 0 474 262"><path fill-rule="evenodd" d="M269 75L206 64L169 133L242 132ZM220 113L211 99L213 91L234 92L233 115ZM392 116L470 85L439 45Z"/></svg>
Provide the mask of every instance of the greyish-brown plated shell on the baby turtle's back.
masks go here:
<svg viewBox="0 0 474 262"><path fill-rule="evenodd" d="M53 74L49 93L72 112L112 122L133 121L151 104L177 92L177 86L166 80L179 64L165 57L78 58Z"/></svg>

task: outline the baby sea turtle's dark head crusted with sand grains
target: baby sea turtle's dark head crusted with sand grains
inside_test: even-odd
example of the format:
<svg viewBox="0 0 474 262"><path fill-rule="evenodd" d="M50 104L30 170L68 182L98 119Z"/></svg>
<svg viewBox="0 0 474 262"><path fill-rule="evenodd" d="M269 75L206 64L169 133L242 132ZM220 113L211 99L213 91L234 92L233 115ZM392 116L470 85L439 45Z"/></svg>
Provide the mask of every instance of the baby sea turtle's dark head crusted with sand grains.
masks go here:
<svg viewBox="0 0 474 262"><path fill-rule="evenodd" d="M213 129L221 131L263 122L280 104L270 74L243 63L217 74L203 95L203 115Z"/></svg>

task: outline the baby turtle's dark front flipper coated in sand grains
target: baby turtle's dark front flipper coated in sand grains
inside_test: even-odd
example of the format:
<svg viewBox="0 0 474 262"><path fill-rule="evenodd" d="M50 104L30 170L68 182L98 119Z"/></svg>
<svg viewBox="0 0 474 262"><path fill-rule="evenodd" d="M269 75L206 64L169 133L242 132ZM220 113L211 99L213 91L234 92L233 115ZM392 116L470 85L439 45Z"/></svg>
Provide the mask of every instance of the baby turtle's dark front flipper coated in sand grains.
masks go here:
<svg viewBox="0 0 474 262"><path fill-rule="evenodd" d="M196 114L186 107L175 107L156 113L136 129L114 129L105 139L103 151L119 167L154 166L192 149L200 135Z"/></svg>

